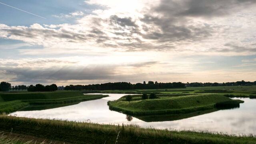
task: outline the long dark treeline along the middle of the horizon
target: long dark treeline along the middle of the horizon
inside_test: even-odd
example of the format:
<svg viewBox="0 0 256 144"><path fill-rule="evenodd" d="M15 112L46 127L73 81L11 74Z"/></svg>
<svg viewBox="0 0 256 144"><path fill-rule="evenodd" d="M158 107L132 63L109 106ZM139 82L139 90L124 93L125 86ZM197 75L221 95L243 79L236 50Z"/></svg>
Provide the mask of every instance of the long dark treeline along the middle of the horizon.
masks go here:
<svg viewBox="0 0 256 144"><path fill-rule="evenodd" d="M174 83L154 83L149 81L147 84L144 83L102 83L93 85L69 85L65 87L65 90L129 90L129 89L172 89L172 88L184 88L185 84L181 82Z"/></svg>

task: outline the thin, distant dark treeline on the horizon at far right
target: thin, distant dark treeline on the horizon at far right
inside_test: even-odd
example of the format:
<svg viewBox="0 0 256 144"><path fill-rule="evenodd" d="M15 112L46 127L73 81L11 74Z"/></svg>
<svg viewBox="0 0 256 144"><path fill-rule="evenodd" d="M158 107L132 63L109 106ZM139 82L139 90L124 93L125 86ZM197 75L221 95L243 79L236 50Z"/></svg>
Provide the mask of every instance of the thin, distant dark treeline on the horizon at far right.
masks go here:
<svg viewBox="0 0 256 144"><path fill-rule="evenodd" d="M186 83L186 87L210 87L210 86L251 86L256 85L256 81L237 81L228 83Z"/></svg>

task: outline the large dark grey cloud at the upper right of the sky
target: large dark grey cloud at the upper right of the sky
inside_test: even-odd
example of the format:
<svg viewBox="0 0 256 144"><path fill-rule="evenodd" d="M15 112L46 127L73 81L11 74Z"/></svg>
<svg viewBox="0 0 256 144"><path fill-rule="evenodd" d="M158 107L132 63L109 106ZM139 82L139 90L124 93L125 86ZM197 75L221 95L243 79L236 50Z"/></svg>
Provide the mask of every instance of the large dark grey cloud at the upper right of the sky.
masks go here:
<svg viewBox="0 0 256 144"><path fill-rule="evenodd" d="M219 33L221 26L206 23L196 24L195 17L222 17L246 6L256 4L255 0L162 0L158 6L146 10L140 21L144 22L142 34L145 39L160 43L178 41L196 42ZM156 15L158 14L158 15ZM147 26L148 25L148 26Z"/></svg>

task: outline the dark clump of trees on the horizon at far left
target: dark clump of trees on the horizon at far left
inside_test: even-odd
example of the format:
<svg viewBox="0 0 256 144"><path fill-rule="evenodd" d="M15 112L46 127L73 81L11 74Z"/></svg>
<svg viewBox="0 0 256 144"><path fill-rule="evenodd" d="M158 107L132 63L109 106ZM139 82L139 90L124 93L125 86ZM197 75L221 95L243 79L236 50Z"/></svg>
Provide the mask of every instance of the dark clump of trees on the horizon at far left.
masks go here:
<svg viewBox="0 0 256 144"><path fill-rule="evenodd" d="M12 86L10 83L7 83L5 81L2 81L0 83L0 91L57 91L58 87L56 84L52 84L52 85L42 85L42 84L36 84L34 85L30 85L30 86L26 86L26 85L16 85L16 86Z"/></svg>

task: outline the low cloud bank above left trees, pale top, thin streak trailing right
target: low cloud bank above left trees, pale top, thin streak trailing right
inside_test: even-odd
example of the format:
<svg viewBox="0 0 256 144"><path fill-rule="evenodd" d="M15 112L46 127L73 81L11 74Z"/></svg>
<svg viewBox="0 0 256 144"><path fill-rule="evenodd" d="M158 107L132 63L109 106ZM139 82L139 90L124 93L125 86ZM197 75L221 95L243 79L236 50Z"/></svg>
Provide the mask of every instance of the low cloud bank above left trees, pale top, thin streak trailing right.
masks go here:
<svg viewBox="0 0 256 144"><path fill-rule="evenodd" d="M86 80L118 80L127 75L141 75L142 71L125 73L126 67L150 67L157 61L143 61L124 64L93 64L84 65L81 61L65 60L63 58L49 59L0 59L0 74L11 75L10 82L47 83L50 81L86 81ZM10 65L11 63L11 65Z"/></svg>

